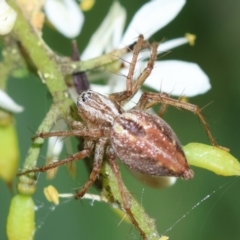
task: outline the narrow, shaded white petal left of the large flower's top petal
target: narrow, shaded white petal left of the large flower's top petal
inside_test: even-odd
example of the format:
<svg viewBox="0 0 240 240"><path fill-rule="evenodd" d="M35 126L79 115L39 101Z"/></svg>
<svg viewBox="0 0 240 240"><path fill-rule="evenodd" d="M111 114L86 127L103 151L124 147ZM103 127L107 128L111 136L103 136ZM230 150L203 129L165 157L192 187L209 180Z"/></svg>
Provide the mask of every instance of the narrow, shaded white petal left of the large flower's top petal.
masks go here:
<svg viewBox="0 0 240 240"><path fill-rule="evenodd" d="M113 2L107 16L92 35L91 40L81 55L82 60L100 56L118 46L126 20L126 10L119 2Z"/></svg>

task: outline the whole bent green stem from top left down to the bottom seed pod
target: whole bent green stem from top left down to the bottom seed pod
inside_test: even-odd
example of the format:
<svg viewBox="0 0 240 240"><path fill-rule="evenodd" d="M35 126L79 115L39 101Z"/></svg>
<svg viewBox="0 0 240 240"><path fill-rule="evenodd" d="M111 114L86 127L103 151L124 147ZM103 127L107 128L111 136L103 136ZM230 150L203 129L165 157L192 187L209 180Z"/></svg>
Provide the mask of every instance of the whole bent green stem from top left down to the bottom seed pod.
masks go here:
<svg viewBox="0 0 240 240"><path fill-rule="evenodd" d="M46 46L39 33L24 17L16 1L10 0L8 3L18 14L12 36L20 41L53 97L54 105L38 128L38 132L48 132L56 120L62 116L62 113L66 114L66 112L69 111L73 102L68 98L64 76L54 60L53 53ZM36 167L42 144L43 139L40 140L37 138L33 141L24 162L24 169ZM23 194L32 194L35 191L35 179L33 175L20 177L19 181L19 192Z"/></svg>

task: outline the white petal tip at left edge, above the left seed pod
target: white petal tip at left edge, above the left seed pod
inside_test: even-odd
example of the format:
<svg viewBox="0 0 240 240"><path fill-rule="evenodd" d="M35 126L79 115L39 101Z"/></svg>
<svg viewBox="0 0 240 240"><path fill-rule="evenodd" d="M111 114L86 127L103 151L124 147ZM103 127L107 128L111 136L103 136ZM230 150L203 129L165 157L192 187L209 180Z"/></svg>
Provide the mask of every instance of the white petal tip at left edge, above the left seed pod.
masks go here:
<svg viewBox="0 0 240 240"><path fill-rule="evenodd" d="M0 89L0 107L13 113L19 113L24 110L22 106L14 102L13 99L1 89Z"/></svg>

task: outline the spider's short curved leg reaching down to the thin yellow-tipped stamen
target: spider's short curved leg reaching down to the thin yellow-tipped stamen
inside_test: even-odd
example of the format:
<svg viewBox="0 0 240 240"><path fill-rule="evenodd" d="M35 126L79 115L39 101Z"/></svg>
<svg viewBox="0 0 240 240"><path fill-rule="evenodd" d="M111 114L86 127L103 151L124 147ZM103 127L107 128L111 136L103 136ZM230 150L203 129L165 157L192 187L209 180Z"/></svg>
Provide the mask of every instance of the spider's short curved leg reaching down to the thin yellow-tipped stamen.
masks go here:
<svg viewBox="0 0 240 240"><path fill-rule="evenodd" d="M101 170L103 156L105 152L105 145L107 143L107 138L100 138L95 147L95 155L94 155L94 162L93 162L93 169L90 174L88 181L85 183L83 188L77 191L75 198L79 199L84 196L84 194L88 191L88 189L92 186L98 174Z"/></svg>

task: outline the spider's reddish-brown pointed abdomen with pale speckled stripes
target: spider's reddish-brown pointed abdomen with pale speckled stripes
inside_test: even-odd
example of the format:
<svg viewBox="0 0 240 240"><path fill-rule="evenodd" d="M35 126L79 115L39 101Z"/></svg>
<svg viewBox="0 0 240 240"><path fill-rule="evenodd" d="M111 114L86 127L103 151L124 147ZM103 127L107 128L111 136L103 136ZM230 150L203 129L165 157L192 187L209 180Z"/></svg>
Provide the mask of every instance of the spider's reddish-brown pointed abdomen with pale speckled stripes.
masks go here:
<svg viewBox="0 0 240 240"><path fill-rule="evenodd" d="M135 171L193 177L177 136L157 115L139 110L119 115L111 130L111 145L120 160Z"/></svg>

